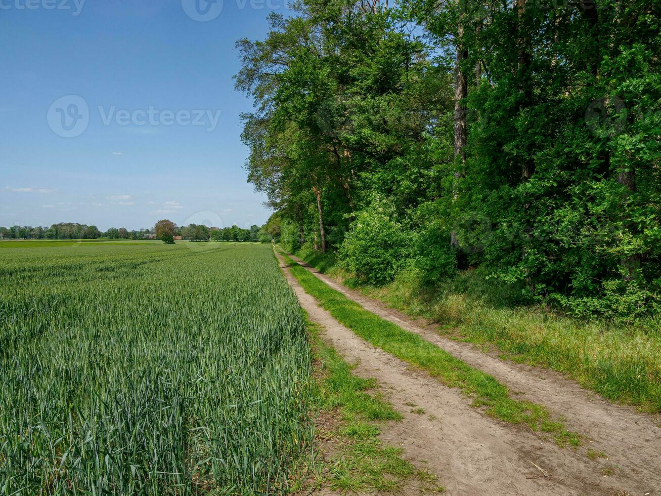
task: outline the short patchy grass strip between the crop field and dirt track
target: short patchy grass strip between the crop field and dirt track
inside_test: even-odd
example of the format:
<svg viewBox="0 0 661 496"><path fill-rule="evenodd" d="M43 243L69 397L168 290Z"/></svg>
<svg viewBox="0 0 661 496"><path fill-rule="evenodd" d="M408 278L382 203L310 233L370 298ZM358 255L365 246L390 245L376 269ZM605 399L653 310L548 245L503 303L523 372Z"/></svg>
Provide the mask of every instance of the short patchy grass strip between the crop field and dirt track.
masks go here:
<svg viewBox="0 0 661 496"><path fill-rule="evenodd" d="M315 360L313 410L319 412L315 427L323 462L300 489L330 487L343 493L440 493L436 477L402 458L401 448L385 446L377 437L385 421L401 414L374 390L375 380L352 374L352 366L319 338L320 327L308 322ZM299 491L300 492L300 491Z"/></svg>

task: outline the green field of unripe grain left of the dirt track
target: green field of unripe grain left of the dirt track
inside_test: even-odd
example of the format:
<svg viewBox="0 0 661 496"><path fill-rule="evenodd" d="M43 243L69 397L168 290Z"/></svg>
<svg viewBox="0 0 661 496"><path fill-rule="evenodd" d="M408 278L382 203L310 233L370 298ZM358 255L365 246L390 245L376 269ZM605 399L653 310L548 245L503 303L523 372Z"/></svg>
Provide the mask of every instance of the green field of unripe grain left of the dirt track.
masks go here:
<svg viewBox="0 0 661 496"><path fill-rule="evenodd" d="M0 493L286 489L310 351L268 247L0 256Z"/></svg>

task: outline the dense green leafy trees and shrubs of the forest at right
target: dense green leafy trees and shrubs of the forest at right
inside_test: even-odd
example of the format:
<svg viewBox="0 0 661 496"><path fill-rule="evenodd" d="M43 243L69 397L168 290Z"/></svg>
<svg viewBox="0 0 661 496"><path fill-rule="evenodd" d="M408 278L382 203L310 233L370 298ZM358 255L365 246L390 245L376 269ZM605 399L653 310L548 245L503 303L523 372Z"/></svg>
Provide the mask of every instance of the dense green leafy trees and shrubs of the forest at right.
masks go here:
<svg viewBox="0 0 661 496"><path fill-rule="evenodd" d="M240 40L249 181L368 282L482 266L574 315L661 308L660 5L304 0Z"/></svg>

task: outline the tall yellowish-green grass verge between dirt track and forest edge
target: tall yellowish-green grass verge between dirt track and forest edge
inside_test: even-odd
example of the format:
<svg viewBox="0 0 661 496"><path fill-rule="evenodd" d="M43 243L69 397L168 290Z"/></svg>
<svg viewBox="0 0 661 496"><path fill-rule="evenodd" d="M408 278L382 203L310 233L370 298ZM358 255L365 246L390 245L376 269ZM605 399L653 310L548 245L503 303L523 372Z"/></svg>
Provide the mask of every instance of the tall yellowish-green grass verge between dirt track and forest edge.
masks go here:
<svg viewBox="0 0 661 496"><path fill-rule="evenodd" d="M333 277L350 276L334 267L332 257L307 251L297 255ZM408 271L386 286L356 289L408 315L442 324L451 339L495 345L504 358L552 368L611 401L661 412L661 323L654 319L633 326L520 306L516 288L488 280L480 269L461 272L434 288Z"/></svg>

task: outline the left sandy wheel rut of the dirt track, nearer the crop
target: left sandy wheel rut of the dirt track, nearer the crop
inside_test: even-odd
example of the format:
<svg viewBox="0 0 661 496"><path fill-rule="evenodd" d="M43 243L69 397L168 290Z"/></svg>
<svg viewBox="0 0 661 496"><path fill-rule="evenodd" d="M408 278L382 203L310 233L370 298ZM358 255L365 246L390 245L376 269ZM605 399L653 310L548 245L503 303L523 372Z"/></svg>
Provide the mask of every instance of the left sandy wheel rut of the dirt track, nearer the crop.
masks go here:
<svg viewBox="0 0 661 496"><path fill-rule="evenodd" d="M402 360L366 343L305 293L279 255L278 259L309 318L325 327L324 339L346 360L357 363L354 373L375 378L395 409L404 413L403 421L391 423L381 438L404 448L405 457L416 466L424 460L448 494L652 493L625 473L604 477L600 460L544 442L523 427L485 417L469 406L469 399L459 390L410 370ZM412 404L424 409L424 414L412 413Z"/></svg>

